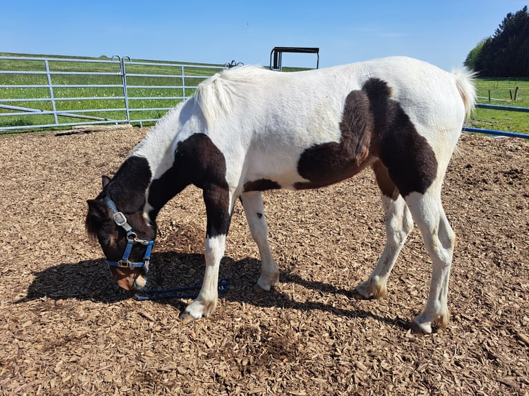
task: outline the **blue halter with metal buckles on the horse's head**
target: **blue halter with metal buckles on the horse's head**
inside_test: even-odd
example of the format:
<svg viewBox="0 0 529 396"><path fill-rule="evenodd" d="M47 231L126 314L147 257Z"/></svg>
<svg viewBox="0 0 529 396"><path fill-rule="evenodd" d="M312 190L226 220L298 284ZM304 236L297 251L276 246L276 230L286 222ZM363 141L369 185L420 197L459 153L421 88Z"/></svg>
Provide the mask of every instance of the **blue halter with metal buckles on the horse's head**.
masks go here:
<svg viewBox="0 0 529 396"><path fill-rule="evenodd" d="M112 217L117 226L122 227L127 233L127 246L123 253L123 257L119 261L110 261L106 259L106 264L112 267L118 268L143 268L145 273L148 271L148 265L151 261L151 250L153 250L154 241L146 241L145 239L140 239L137 237L136 233L132 230L130 224L128 224L125 215L122 212L119 212L116 208L116 204L109 197L106 197L105 203L112 212ZM143 261L130 261L128 256L131 255L131 251L134 244L142 244L146 246L145 255Z"/></svg>

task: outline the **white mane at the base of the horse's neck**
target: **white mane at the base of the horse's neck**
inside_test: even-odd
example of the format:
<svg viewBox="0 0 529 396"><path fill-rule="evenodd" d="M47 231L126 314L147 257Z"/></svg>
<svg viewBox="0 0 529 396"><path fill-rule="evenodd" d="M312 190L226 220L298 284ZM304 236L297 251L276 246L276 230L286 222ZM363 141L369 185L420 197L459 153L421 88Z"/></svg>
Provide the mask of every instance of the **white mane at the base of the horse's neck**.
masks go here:
<svg viewBox="0 0 529 396"><path fill-rule="evenodd" d="M242 98L242 92L261 81L268 72L260 66L236 66L200 83L194 98L207 126L211 128L221 115L229 114L235 100Z"/></svg>

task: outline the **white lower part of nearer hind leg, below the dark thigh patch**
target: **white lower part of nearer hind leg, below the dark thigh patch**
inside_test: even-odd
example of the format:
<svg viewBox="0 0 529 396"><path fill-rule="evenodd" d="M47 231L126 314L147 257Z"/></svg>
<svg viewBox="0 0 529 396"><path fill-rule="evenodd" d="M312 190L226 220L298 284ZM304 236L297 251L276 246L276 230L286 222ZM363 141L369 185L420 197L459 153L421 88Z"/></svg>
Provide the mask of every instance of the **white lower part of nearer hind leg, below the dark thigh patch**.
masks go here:
<svg viewBox="0 0 529 396"><path fill-rule="evenodd" d="M432 259L430 294L424 310L415 317L412 324L412 328L419 333L432 333L432 325L445 328L450 319L448 281L455 235L441 204L440 184L440 181L434 184L425 194L412 192L406 197Z"/></svg>

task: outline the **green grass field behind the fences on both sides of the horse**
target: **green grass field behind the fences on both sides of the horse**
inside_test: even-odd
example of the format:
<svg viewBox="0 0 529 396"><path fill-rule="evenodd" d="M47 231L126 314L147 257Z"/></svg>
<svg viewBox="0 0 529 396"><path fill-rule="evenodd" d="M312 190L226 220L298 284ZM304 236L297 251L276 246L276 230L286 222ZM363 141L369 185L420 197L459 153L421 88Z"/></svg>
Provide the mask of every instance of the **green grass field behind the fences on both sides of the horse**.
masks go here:
<svg viewBox="0 0 529 396"><path fill-rule="evenodd" d="M10 56L4 54L0 56ZM46 57L44 55L17 55L30 57ZM68 58L68 57L62 57ZM52 72L102 72L105 75L52 75L52 83L61 87L54 88L53 95L56 101L56 109L71 111L92 117L104 117L122 121L126 119L124 110L124 92L122 88L122 77L118 74L119 62L111 62L108 58L88 58L69 57L71 59L82 59L82 62L48 62ZM130 64L126 65L128 101L131 112L131 119L158 119L164 115L166 110L149 110L154 108L172 108L180 97L189 97L194 88L204 79L215 72L218 72L222 65L204 65L200 63L179 62L184 66L186 75L185 86L182 88L182 78L164 77L169 75L179 75L181 68L165 66L164 61L139 61L135 63L162 63L156 66ZM193 67L194 66L194 67ZM198 67L210 66L210 67ZM0 70L39 71L44 72L44 61L12 61L0 59ZM285 68L286 71L300 70L298 68ZM156 77L144 77L133 75L156 75ZM191 77L195 76L195 77ZM49 100L50 91L48 88L28 88L28 85L46 85L47 77L40 75L24 74L0 74L0 99L9 99L8 102L0 102L4 105L19 106L25 108L38 108L39 110L52 110L52 103ZM97 88L77 87L94 84ZM505 106L529 107L529 79L477 79L477 92L479 103L501 104ZM2 88L12 86L12 88ZM137 88L134 88L137 87ZM149 87L149 88L147 88ZM514 100L514 91L518 87L517 100ZM185 91L184 91L185 89ZM83 98L94 99L83 99ZM156 99L141 99L154 97ZM491 98L489 101L488 98ZM30 103L17 101L17 99L37 99ZM75 100L60 100L64 98L78 98ZM104 109L114 109L102 112ZM90 111L88 111L90 110ZM0 108L1 113L12 113L13 110ZM59 117L61 123L71 123L83 121L70 117ZM54 123L52 115L20 115L13 117L0 117L0 128L6 126L31 126L39 124ZM473 128L484 128L493 130L505 130L508 132L519 132L529 134L529 114L526 112L512 112L506 110L485 110L476 109L472 117L468 119L466 126ZM35 129L35 128L33 128ZM12 132L12 131L6 131ZM1 133L1 131L0 131Z"/></svg>

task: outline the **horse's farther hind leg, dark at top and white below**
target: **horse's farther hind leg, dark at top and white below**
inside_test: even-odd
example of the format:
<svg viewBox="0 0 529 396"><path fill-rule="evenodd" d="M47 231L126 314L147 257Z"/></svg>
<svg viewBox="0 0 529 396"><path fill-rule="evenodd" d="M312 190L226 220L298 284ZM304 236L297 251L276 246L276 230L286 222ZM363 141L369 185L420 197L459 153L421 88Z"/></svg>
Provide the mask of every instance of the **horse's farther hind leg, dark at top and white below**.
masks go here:
<svg viewBox="0 0 529 396"><path fill-rule="evenodd" d="M373 170L382 192L387 242L369 278L354 289L354 297L357 299L381 299L387 295L387 279L413 228L410 210L389 179L386 168L377 162Z"/></svg>

